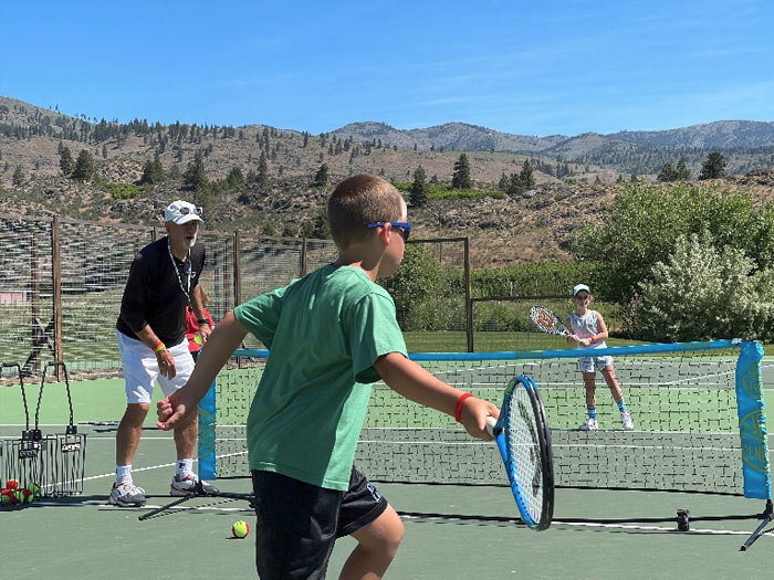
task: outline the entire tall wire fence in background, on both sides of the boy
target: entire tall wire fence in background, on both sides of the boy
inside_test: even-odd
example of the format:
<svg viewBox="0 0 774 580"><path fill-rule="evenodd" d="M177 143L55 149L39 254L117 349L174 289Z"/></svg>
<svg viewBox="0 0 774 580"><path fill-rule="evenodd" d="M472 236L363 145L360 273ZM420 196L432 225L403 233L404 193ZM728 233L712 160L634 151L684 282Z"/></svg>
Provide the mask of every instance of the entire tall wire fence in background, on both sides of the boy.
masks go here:
<svg viewBox="0 0 774 580"><path fill-rule="evenodd" d="M163 235L153 226L0 218L0 361L20 362L30 376L49 360L65 361L74 377L117 373L115 321L129 266ZM336 257L330 240L236 231L202 232L201 241L200 283L216 321ZM520 334L531 330L521 312L527 304L473 298L473 282L467 238L409 241L401 267L380 281L395 299L409 351L519 348ZM564 304L548 306L561 312ZM260 345L249 337L244 346Z"/></svg>

